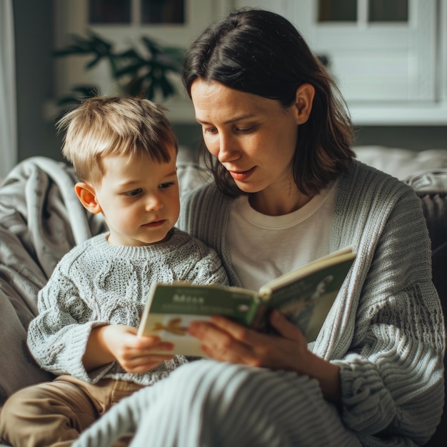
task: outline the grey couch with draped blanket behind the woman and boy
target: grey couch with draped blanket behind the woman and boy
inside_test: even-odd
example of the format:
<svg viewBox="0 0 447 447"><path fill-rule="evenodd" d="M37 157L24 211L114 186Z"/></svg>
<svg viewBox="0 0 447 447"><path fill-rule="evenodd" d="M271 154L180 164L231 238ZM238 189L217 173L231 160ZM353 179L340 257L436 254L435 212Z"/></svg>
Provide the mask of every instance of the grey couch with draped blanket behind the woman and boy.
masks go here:
<svg viewBox="0 0 447 447"><path fill-rule="evenodd" d="M368 146L356 148L356 154L406 181L421 199L431 236L433 281L446 314L447 150ZM180 151L178 168L181 194L208 178L188 151ZM0 406L17 389L51 380L26 348L37 293L66 251L106 230L101 216L87 213L79 203L75 181L66 164L37 156L15 166L0 185ZM427 445L446 446L446 440L447 411Z"/></svg>

